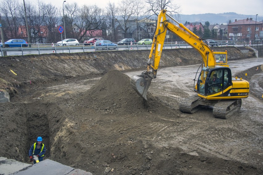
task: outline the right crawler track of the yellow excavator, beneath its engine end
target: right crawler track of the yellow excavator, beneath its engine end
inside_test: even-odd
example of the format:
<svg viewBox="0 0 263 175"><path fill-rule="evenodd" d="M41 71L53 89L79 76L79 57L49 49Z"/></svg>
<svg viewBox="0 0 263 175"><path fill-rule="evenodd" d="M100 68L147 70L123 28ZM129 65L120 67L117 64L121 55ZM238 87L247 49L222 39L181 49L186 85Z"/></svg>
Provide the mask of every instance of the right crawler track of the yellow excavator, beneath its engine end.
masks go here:
<svg viewBox="0 0 263 175"><path fill-rule="evenodd" d="M213 108L213 116L227 119L241 108L242 100L221 100Z"/></svg>

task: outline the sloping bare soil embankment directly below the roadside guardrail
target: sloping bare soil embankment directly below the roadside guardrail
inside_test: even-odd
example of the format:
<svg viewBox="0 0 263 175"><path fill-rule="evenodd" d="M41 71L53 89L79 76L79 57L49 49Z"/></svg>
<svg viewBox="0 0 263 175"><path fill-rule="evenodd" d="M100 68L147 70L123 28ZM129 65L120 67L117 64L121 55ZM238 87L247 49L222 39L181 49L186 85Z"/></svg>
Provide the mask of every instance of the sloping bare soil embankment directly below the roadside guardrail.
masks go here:
<svg viewBox="0 0 263 175"><path fill-rule="evenodd" d="M255 57L251 49L242 53L236 47L215 47L214 51L228 51L228 60ZM148 50L96 51L86 53L62 53L43 55L7 56L0 59L0 75L16 88L24 85L43 85L56 81L67 82L71 78L99 77L107 71L144 70ZM202 58L193 48L163 50L159 67L173 67L201 63ZM12 73L12 71L14 73Z"/></svg>

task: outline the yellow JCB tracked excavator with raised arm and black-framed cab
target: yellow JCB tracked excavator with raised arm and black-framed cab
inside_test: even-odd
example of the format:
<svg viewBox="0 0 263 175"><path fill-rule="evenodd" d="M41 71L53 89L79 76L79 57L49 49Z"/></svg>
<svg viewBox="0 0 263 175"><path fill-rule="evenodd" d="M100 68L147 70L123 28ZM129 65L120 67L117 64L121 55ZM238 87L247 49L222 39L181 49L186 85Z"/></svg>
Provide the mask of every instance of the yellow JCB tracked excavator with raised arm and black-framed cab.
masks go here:
<svg viewBox="0 0 263 175"><path fill-rule="evenodd" d="M181 100L179 110L194 113L204 106L212 106L215 117L228 118L241 108L241 99L248 97L248 81L237 77L232 78L231 70L227 64L227 51L213 52L205 40L195 35L166 12L167 10L161 10L158 15L147 71L142 72L141 75L131 76L131 86L144 100L147 100L147 91L152 79L157 76L165 35L169 30L197 50L202 57L202 69L197 83L194 85L197 95ZM168 21L166 16L179 26Z"/></svg>

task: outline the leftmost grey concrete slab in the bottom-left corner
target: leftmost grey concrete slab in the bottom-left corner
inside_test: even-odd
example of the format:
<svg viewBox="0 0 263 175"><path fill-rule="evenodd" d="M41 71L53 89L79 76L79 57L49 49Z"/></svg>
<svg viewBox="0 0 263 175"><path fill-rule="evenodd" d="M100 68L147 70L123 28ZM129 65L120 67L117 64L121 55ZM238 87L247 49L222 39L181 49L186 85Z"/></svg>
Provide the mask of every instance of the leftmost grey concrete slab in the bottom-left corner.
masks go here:
<svg viewBox="0 0 263 175"><path fill-rule="evenodd" d="M7 175L15 173L21 169L32 166L31 164L22 163L14 159L7 159L6 157L0 157L0 174Z"/></svg>

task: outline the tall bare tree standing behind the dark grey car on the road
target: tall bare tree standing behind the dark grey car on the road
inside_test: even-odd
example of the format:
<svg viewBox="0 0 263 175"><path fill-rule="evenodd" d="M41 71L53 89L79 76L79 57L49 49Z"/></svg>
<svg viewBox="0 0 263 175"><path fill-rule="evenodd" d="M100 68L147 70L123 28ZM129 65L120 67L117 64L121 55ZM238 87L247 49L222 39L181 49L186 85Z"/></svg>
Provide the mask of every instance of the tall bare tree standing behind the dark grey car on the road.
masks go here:
<svg viewBox="0 0 263 175"><path fill-rule="evenodd" d="M124 37L130 37L127 35L128 30L131 32L130 27L132 26L131 24L131 19L132 16L135 14L134 11L134 1L133 0L122 0L120 5L119 5L119 11L120 11L120 19L117 19L119 26L123 29L124 31Z"/></svg>

